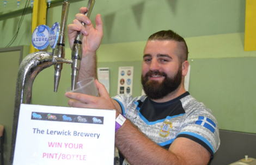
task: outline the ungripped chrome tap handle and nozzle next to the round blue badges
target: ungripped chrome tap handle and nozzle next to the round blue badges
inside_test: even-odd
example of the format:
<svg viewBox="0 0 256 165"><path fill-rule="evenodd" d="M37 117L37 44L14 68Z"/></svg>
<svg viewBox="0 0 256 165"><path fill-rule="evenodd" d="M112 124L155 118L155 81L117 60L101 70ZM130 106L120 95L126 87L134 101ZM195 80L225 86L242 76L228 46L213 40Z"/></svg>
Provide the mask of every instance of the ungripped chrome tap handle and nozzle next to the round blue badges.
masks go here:
<svg viewBox="0 0 256 165"><path fill-rule="evenodd" d="M65 58L65 29L66 29L66 20L68 19L69 13L69 2L64 1L62 3L62 20L60 23L59 37L57 46L54 51L54 56L59 58ZM54 66L54 92L58 91L59 79L62 72L63 64L57 64Z"/></svg>

